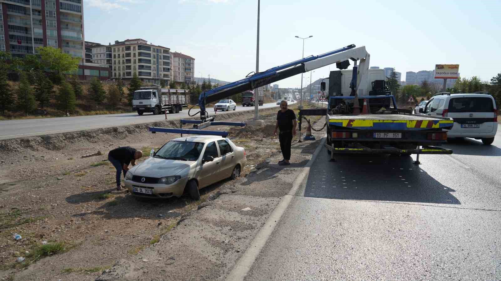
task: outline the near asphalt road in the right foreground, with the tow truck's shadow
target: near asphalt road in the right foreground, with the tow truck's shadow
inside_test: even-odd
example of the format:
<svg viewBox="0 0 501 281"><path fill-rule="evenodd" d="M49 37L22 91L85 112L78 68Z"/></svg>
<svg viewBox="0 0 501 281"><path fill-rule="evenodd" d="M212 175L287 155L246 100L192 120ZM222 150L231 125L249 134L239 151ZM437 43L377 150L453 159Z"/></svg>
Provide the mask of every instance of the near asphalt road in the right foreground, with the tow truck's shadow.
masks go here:
<svg viewBox="0 0 501 281"><path fill-rule="evenodd" d="M323 148L245 279L501 280L501 127L445 147L419 166Z"/></svg>

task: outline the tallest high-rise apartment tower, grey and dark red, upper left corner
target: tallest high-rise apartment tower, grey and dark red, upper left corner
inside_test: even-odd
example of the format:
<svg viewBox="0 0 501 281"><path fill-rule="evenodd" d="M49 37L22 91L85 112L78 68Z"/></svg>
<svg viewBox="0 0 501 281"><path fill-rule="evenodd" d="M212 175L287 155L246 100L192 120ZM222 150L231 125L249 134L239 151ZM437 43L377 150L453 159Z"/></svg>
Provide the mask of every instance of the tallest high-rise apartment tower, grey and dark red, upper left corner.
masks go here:
<svg viewBox="0 0 501 281"><path fill-rule="evenodd" d="M15 56L52 46L85 59L82 0L0 0L0 50Z"/></svg>

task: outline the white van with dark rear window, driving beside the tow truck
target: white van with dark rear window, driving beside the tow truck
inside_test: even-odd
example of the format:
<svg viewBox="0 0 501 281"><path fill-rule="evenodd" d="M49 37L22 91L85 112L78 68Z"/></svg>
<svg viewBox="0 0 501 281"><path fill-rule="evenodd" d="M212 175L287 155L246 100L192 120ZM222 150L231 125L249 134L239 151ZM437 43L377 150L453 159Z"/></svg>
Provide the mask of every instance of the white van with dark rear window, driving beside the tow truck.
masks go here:
<svg viewBox="0 0 501 281"><path fill-rule="evenodd" d="M492 95L480 91L474 93L439 92L426 103L421 113L454 119L454 126L447 137L471 137L491 144L497 131L497 108Z"/></svg>

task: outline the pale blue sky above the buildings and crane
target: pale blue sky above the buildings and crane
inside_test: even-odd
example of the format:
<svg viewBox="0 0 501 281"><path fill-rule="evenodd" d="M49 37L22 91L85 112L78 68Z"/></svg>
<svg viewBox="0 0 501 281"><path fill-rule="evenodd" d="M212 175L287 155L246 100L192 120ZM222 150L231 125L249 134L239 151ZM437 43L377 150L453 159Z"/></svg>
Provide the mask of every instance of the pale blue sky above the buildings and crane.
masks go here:
<svg viewBox="0 0 501 281"><path fill-rule="evenodd" d="M458 63L462 77L490 80L501 72L499 11L499 0L261 0L260 70L301 58L294 36L313 35L305 56L365 45L372 66L395 67L402 79ZM233 81L256 70L257 0L84 0L84 21L87 41L143 38L191 55L197 77ZM328 75L323 67L312 79ZM301 76L277 83L299 87Z"/></svg>

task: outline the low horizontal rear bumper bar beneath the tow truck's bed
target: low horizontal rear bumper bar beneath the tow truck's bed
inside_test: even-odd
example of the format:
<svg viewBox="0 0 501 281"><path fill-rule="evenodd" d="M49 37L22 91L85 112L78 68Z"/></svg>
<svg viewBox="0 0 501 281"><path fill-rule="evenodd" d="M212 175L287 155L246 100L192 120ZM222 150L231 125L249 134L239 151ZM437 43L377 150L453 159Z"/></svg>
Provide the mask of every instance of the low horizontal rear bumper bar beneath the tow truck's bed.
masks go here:
<svg viewBox="0 0 501 281"><path fill-rule="evenodd" d="M332 147L331 145L324 144L324 146L335 154L452 154L452 149L436 147L436 146L423 146L421 149L400 149L395 147L389 148L339 148Z"/></svg>

